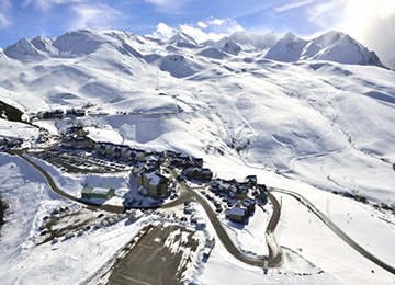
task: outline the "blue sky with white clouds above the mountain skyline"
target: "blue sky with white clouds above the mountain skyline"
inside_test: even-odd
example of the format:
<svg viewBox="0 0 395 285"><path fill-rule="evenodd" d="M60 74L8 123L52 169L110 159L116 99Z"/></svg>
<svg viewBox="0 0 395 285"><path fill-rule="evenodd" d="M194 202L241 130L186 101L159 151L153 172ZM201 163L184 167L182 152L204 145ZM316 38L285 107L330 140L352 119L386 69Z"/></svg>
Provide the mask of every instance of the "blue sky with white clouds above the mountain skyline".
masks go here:
<svg viewBox="0 0 395 285"><path fill-rule="evenodd" d="M78 29L125 30L198 41L237 30L308 36L349 33L379 55L395 48L395 0L0 0L0 46Z"/></svg>

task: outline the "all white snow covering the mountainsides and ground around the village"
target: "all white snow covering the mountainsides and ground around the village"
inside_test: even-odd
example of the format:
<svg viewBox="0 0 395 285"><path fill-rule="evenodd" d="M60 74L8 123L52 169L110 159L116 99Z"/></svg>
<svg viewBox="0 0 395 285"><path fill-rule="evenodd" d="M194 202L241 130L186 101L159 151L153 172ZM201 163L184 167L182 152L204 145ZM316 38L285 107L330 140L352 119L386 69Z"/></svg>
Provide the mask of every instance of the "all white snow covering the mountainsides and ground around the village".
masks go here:
<svg viewBox="0 0 395 285"><path fill-rule="evenodd" d="M229 48L224 50L226 43ZM0 50L0 100L27 113L89 102L93 104L89 111L105 113L79 119L94 138L148 150L182 151L202 157L217 176L241 181L257 174L259 183L293 190L392 264L393 217L330 193L395 203L395 73L381 67L373 53L338 32L309 41L292 33L255 36L237 32L216 43L198 44L185 34L163 42L120 31L83 30L50 39L21 39L4 53ZM0 123L0 135L38 135L26 125ZM56 134L71 123L40 125ZM95 175L60 176L49 167L48 171L72 194L87 180L101 182ZM0 244L7 251L1 280L10 284L40 283L50 280L54 272L58 283L66 284L76 269L72 284L80 283L138 230L116 226L61 242L57 246L61 252L43 261L34 275L34 262L52 249L50 244L33 247L35 217L43 208L67 202L54 197L43 179L16 158L1 156L0 172L1 194L15 206L12 220L2 228L10 239ZM125 178L113 179L125 185ZM275 235L290 258L280 272L290 277L275 270L270 278L262 278L260 269L235 261L218 243L208 262L194 269L193 282L241 284L246 276L250 284L385 284L391 280L306 208L285 196L283 202ZM262 219L262 215L256 217ZM12 230L15 225L20 227ZM246 227L251 235L237 233L236 243L251 252L259 246L256 253L263 254L261 227L259 219L251 219ZM314 233L308 235L309 230ZM323 240L328 241L327 249L321 248ZM94 254L103 252L99 260L89 254L91 249ZM19 276L21 265L26 270ZM48 266L50 274L41 275ZM325 274L318 274L320 270ZM294 278L294 272L305 271L313 275Z"/></svg>

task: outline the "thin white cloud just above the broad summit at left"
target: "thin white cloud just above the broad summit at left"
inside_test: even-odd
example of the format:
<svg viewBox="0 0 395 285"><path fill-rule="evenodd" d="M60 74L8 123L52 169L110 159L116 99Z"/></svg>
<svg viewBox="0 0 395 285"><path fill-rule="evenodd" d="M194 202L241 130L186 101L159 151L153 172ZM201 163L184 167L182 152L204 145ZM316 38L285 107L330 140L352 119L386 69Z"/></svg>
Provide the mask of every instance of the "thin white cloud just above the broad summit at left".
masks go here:
<svg viewBox="0 0 395 285"><path fill-rule="evenodd" d="M76 18L71 20L70 30L92 29L105 30L113 29L113 24L124 19L125 15L111 7L104 4L78 4L70 8Z"/></svg>

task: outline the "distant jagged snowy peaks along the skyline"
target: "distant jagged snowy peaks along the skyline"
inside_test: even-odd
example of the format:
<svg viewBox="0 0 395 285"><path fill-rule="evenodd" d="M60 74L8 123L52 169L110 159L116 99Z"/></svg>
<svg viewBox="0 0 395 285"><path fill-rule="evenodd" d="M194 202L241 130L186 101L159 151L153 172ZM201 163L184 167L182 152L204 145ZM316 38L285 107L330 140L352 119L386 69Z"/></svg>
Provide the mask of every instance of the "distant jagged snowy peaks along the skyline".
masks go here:
<svg viewBox="0 0 395 285"><path fill-rule="evenodd" d="M167 46L169 52L172 47L202 49L201 55L214 58L224 57L224 53L238 55L244 52L260 53L267 59L284 62L327 60L347 65L385 67L374 52L370 52L349 35L335 31L309 41L302 39L291 32L283 36L275 33L253 35L247 32L235 32L218 42L207 41L201 44L184 33L178 33L168 41L161 41L116 31L106 33L77 31L55 38L40 36L32 41L22 38L16 44L0 50L0 57L21 61L41 60L47 57L68 58L94 53L110 43L114 49L136 54L137 52L131 49L127 41L139 44L146 41L156 42L160 46Z"/></svg>

